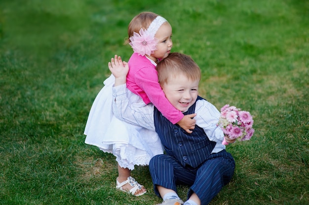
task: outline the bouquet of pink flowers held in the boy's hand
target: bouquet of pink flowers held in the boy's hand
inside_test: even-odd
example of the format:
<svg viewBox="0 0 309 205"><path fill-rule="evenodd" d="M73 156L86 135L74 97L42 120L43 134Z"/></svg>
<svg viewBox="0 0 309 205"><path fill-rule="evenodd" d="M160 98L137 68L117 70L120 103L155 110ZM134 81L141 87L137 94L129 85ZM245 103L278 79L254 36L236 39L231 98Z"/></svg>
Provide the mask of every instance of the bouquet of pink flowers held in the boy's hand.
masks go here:
<svg viewBox="0 0 309 205"><path fill-rule="evenodd" d="M235 106L229 104L221 108L221 115L218 126L221 127L225 136L240 141L249 140L254 133L252 128L253 119L249 112L242 111ZM223 140L222 144L227 145L228 142Z"/></svg>

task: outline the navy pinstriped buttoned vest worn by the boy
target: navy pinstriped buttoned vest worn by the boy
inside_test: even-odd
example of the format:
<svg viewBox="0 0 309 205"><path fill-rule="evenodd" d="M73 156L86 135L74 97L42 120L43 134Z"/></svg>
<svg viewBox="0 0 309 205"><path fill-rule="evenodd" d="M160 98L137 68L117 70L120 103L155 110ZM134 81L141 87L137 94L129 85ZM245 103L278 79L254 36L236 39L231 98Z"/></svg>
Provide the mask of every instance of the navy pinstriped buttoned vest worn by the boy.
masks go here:
<svg viewBox="0 0 309 205"><path fill-rule="evenodd" d="M196 101L202 100L197 97ZM196 102L184 114L195 112ZM216 142L210 141L204 130L195 126L192 134L187 133L179 125L173 125L160 111L154 107L154 127L161 139L166 154L176 158L184 167L198 167L210 155Z"/></svg>

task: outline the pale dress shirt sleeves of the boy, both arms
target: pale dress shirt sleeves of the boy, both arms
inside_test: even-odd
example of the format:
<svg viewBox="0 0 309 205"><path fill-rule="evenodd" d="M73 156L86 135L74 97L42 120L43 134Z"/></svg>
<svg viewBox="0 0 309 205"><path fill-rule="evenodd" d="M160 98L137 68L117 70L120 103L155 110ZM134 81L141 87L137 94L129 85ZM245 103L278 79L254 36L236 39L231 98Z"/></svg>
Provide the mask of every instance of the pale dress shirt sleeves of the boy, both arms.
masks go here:
<svg viewBox="0 0 309 205"><path fill-rule="evenodd" d="M113 87L113 98L113 112L118 119L155 131L152 103L143 107L131 105L127 99L125 84ZM225 149L225 145L222 144L223 131L217 126L220 117L219 110L206 100L198 100L194 113L196 113L194 117L196 125L204 130L209 140L217 142L212 153Z"/></svg>

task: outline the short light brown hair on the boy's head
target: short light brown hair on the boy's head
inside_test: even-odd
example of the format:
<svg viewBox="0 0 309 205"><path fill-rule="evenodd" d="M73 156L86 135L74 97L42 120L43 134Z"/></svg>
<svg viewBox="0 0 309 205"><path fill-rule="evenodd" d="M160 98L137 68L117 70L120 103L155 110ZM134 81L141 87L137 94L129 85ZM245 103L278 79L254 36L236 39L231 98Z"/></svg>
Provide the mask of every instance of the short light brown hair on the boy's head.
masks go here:
<svg viewBox="0 0 309 205"><path fill-rule="evenodd" d="M200 68L190 56L181 53L170 53L156 66L158 80L162 85L168 83L168 79L183 74L188 80L200 80Z"/></svg>

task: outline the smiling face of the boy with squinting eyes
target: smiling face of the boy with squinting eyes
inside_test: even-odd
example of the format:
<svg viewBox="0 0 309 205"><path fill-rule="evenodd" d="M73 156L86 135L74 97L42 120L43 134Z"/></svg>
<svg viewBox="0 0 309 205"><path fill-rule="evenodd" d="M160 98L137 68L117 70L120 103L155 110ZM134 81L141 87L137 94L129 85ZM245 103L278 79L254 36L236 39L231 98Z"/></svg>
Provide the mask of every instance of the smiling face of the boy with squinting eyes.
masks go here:
<svg viewBox="0 0 309 205"><path fill-rule="evenodd" d="M189 80L184 74L170 77L162 85L167 100L178 110L184 112L196 101L199 80Z"/></svg>

